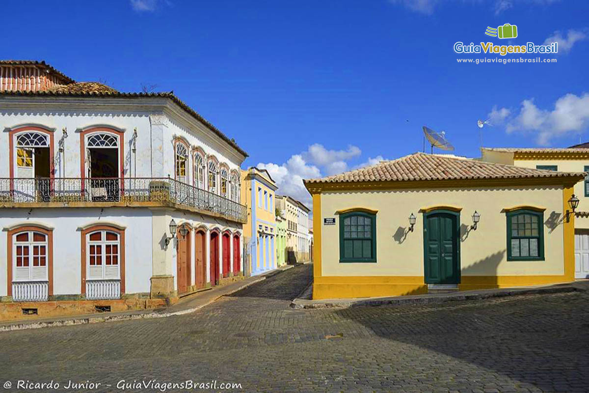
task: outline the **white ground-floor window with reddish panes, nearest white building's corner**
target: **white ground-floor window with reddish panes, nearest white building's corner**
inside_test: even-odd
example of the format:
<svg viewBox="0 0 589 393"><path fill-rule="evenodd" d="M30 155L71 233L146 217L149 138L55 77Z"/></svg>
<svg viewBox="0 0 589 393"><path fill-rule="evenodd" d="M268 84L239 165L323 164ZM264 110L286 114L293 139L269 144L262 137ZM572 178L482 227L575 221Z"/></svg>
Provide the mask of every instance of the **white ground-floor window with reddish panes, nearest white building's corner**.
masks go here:
<svg viewBox="0 0 589 393"><path fill-rule="evenodd" d="M120 279L119 234L109 230L97 230L88 233L87 236L87 279Z"/></svg>

